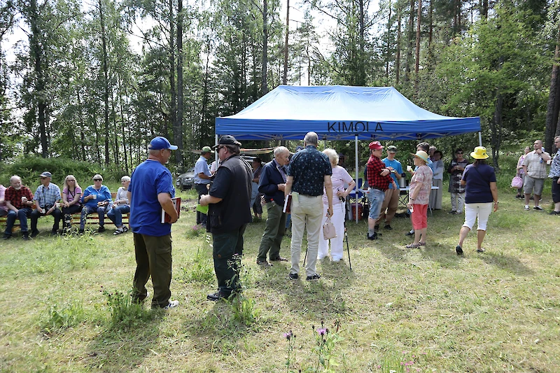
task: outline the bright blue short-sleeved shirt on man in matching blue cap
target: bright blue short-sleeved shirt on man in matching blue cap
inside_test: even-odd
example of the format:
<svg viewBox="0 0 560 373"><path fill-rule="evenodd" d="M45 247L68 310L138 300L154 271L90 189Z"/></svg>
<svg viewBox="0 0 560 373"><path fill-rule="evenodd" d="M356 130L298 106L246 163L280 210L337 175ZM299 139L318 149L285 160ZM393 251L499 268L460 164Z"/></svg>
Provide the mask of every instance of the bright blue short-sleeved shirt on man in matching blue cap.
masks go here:
<svg viewBox="0 0 560 373"><path fill-rule="evenodd" d="M169 169L157 160L145 160L132 172L128 191L132 232L154 237L171 234L171 224L161 223L162 205L158 201L160 193L175 197Z"/></svg>

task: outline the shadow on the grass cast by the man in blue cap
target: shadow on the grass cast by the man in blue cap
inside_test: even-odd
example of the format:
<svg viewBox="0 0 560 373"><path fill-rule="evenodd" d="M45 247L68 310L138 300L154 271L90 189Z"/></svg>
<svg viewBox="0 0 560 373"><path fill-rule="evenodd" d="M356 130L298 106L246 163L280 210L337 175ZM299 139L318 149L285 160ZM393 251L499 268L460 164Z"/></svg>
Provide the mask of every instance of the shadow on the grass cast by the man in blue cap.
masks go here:
<svg viewBox="0 0 560 373"><path fill-rule="evenodd" d="M139 318L126 325L107 321L103 332L90 342L85 365L102 372L137 369L146 356L158 350L160 323L165 314L166 311L160 309L144 309Z"/></svg>

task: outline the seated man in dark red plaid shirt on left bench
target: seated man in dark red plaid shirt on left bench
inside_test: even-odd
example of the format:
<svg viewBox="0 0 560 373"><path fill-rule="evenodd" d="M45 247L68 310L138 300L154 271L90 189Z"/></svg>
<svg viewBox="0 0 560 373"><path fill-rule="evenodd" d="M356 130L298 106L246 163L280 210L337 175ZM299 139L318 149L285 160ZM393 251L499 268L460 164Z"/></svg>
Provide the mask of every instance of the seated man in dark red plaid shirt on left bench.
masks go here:
<svg viewBox="0 0 560 373"><path fill-rule="evenodd" d="M33 195L31 190L22 185L22 179L18 175L10 178L10 187L6 189L6 206L8 206L8 218L6 219L6 231L4 231L3 239L12 238L12 228L15 218L20 219L20 227L22 228L22 238L29 240L29 232L27 231L27 217L31 216L31 206L33 205Z"/></svg>

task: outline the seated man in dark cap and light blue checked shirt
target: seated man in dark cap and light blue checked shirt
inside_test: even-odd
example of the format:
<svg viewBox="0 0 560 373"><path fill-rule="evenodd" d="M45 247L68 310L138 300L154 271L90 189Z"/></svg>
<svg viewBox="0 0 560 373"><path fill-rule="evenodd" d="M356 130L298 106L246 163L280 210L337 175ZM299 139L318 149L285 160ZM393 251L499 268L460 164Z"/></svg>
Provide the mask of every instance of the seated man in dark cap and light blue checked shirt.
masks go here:
<svg viewBox="0 0 560 373"><path fill-rule="evenodd" d="M52 225L50 234L57 234L60 227L60 188L58 185L50 182L51 174L48 171L43 172L41 176L41 185L35 191L35 209L31 212L31 238L37 237L39 231L37 229L37 220L41 216L52 215L55 217L55 224ZM58 204L58 206L57 206Z"/></svg>

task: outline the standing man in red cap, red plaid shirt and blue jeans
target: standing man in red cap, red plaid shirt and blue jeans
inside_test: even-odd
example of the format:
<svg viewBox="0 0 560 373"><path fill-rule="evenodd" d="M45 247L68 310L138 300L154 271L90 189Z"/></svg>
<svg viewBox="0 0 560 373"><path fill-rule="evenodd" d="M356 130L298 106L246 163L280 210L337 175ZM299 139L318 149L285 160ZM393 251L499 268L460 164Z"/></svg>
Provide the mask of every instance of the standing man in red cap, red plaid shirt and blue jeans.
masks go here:
<svg viewBox="0 0 560 373"><path fill-rule="evenodd" d="M386 169L381 162L383 156L383 146L379 141L370 143L370 159L367 160L367 199L370 201L370 216L367 218L367 239L377 239L375 232L375 222L381 213L381 205L385 199L385 190L389 184L393 183L393 188L397 188L395 181L391 178L391 170Z"/></svg>

